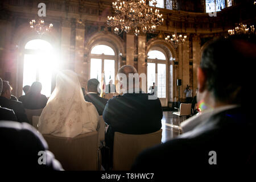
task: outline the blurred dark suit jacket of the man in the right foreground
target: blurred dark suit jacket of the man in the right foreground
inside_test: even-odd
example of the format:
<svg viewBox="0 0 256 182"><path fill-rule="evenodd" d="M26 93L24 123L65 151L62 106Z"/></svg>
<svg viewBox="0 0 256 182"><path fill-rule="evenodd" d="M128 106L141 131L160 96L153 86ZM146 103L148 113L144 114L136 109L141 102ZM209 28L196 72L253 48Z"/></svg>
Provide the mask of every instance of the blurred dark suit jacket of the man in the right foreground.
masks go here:
<svg viewBox="0 0 256 182"><path fill-rule="evenodd" d="M244 164L255 166L255 147L255 119L248 119L241 108L230 109L213 115L180 137L143 151L132 169L179 172L185 167L200 173L199 168L229 166L230 170ZM216 152L217 165L209 164L214 156L210 151Z"/></svg>

